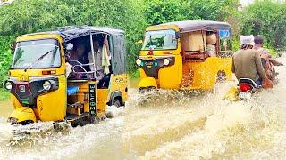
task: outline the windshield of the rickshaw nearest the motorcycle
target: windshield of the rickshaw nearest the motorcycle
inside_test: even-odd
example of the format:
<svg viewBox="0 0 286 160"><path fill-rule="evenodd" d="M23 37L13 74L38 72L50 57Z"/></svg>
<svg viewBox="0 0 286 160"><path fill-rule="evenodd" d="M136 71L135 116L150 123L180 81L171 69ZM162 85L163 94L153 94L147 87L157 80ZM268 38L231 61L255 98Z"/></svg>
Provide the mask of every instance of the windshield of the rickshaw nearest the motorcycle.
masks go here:
<svg viewBox="0 0 286 160"><path fill-rule="evenodd" d="M177 49L176 32L173 29L147 31L142 50Z"/></svg>

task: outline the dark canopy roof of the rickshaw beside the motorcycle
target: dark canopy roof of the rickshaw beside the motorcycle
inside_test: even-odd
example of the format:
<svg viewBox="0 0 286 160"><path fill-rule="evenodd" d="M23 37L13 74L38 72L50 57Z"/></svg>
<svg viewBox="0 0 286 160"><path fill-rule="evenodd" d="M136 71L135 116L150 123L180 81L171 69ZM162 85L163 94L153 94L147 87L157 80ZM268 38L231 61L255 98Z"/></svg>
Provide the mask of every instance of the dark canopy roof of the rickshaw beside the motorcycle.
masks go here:
<svg viewBox="0 0 286 160"><path fill-rule="evenodd" d="M157 26L174 25L181 29L181 32L189 32L199 29L206 30L231 30L231 25L226 22L209 21L209 20L187 20L174 21L169 23L159 24Z"/></svg>

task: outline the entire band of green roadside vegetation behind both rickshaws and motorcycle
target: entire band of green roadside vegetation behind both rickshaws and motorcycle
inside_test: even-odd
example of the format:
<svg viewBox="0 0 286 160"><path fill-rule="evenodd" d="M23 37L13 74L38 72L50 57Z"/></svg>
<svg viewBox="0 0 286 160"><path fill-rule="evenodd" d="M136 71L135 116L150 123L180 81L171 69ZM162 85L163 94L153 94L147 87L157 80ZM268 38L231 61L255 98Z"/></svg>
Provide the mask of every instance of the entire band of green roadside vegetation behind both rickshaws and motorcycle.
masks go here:
<svg viewBox="0 0 286 160"><path fill-rule="evenodd" d="M135 60L144 29L175 20L219 20L232 26L233 49L241 34L263 35L273 52L286 44L286 4L256 1L243 10L239 0L17 0L0 7L0 88L12 54L10 44L22 34L70 25L122 28L126 32L128 69L138 76ZM3 92L0 92L2 96Z"/></svg>

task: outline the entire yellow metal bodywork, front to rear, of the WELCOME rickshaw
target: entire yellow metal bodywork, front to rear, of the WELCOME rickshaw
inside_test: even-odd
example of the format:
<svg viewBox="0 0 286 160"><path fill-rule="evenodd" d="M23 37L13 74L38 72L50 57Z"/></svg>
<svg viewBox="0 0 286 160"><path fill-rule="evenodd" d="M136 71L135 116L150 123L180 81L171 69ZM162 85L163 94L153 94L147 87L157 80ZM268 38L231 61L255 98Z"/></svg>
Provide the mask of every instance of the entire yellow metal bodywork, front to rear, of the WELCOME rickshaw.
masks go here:
<svg viewBox="0 0 286 160"><path fill-rule="evenodd" d="M63 44L63 39L61 36L54 34L36 34L28 36L20 36L17 38L17 42L54 38L59 41L59 44ZM71 96L71 101L80 102L84 104L84 112L89 112L89 101L88 101L88 84L96 84L95 81L86 81L80 83L70 83L65 76L65 59L63 46L61 48L62 62L59 68L37 68L37 69L11 69L10 78L17 79L21 82L29 82L34 78L44 78L47 76L57 77L59 80L59 87L57 90L52 92L47 92L40 94L37 97L37 106L28 108L28 106L22 106L19 100L11 94L11 100L13 101L13 107L15 110L10 117L18 119L18 122L25 120L32 120L34 122L40 121L63 121L67 116L67 112L71 109L67 107L67 86L76 84L79 86L79 92ZM55 71L54 75L43 75L43 71ZM111 76L111 83L109 89L97 89L97 116L105 116L106 103L110 100L112 92L120 91L122 92L122 101L126 101L127 95L127 75L116 75ZM80 115L80 112L79 114Z"/></svg>

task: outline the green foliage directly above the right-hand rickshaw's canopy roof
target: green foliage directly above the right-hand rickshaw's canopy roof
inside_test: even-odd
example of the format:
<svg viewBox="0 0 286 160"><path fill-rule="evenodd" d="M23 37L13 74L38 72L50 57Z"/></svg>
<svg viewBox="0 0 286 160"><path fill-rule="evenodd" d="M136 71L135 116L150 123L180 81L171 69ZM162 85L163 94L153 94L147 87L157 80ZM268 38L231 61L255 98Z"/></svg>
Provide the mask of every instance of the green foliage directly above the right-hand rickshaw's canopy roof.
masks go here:
<svg viewBox="0 0 286 160"><path fill-rule="evenodd" d="M148 25L179 20L225 21L238 12L238 0L144 0Z"/></svg>

